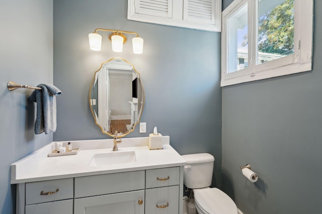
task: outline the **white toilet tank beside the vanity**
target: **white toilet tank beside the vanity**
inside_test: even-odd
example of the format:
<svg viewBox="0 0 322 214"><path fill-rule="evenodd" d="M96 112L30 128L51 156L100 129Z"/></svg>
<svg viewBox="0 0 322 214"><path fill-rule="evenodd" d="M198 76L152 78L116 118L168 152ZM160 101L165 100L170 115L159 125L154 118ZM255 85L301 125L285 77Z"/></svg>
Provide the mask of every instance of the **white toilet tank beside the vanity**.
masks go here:
<svg viewBox="0 0 322 214"><path fill-rule="evenodd" d="M185 154L182 157L187 162L184 167L184 184L191 189L210 186L215 158L209 153Z"/></svg>

